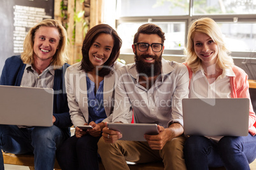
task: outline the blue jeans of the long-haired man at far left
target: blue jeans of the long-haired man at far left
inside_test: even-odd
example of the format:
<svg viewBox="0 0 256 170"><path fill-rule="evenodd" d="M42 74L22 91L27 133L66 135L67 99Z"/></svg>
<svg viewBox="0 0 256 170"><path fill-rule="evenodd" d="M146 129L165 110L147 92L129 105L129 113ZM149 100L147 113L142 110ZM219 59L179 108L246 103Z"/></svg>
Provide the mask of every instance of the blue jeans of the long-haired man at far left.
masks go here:
<svg viewBox="0 0 256 170"><path fill-rule="evenodd" d="M12 154L34 154L35 169L52 170L55 150L65 140L57 126L18 128L15 125L0 125L0 148ZM3 153L0 153L0 170L4 169Z"/></svg>

